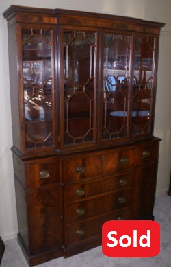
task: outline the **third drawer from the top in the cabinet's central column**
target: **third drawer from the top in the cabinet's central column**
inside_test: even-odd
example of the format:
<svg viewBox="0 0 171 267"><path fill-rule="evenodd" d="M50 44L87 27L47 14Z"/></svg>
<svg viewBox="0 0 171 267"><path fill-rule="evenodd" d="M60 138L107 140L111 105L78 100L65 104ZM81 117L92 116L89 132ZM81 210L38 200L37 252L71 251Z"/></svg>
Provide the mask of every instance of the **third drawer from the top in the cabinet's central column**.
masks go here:
<svg viewBox="0 0 171 267"><path fill-rule="evenodd" d="M122 209L131 206L132 191L118 191L113 194L106 194L89 200L73 202L66 205L66 224L79 222L93 216L111 213L115 209Z"/></svg>

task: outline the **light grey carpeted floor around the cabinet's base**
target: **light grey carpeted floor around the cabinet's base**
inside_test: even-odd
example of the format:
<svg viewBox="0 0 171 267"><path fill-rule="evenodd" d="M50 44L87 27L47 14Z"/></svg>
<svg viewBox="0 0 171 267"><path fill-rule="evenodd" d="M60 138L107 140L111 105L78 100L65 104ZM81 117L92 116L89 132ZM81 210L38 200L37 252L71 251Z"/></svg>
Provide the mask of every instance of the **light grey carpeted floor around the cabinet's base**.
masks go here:
<svg viewBox="0 0 171 267"><path fill-rule="evenodd" d="M171 266L171 197L159 196L155 201L155 221L161 227L161 252L149 258L112 258L101 252L101 246L64 259L60 257L39 267L170 267ZM16 239L5 242L1 267L27 267Z"/></svg>

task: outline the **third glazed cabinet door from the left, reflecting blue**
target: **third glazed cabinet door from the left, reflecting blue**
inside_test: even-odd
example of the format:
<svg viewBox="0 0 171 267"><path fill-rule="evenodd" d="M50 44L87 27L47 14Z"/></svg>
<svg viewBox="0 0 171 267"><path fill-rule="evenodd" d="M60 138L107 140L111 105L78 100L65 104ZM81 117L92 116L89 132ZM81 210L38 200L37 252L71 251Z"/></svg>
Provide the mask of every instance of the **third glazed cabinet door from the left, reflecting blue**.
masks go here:
<svg viewBox="0 0 171 267"><path fill-rule="evenodd" d="M102 140L129 134L131 36L104 34Z"/></svg>

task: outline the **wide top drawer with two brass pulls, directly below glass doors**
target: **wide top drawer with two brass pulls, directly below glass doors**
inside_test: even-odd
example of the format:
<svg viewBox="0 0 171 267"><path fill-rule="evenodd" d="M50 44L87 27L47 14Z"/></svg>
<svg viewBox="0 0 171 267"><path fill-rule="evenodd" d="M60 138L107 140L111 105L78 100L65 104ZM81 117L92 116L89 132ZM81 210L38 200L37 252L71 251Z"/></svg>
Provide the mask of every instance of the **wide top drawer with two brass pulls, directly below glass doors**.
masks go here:
<svg viewBox="0 0 171 267"><path fill-rule="evenodd" d="M70 156L62 161L62 176L65 183L83 181L132 170L136 150L133 147L103 150L92 154Z"/></svg>

